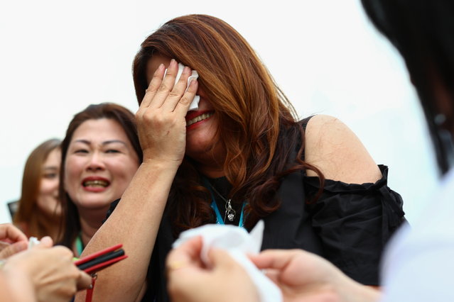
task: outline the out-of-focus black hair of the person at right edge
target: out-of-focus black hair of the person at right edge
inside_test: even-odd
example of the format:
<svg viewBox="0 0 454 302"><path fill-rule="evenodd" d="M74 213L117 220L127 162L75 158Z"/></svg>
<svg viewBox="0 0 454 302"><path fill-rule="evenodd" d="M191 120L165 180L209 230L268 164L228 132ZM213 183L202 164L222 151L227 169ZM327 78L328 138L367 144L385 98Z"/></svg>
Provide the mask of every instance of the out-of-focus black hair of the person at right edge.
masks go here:
<svg viewBox="0 0 454 302"><path fill-rule="evenodd" d="M362 6L404 57L444 174L454 163L454 1L362 0Z"/></svg>

